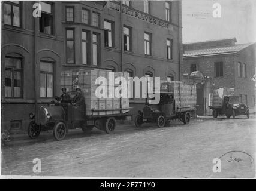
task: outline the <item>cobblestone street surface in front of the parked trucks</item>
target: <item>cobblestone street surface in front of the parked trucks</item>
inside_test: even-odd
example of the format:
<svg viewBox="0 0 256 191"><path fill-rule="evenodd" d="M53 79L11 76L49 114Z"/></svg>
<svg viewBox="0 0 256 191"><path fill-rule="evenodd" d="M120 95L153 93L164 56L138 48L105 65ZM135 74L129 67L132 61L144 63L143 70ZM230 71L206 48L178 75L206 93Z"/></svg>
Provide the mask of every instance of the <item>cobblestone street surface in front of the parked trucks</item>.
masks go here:
<svg viewBox="0 0 256 191"><path fill-rule="evenodd" d="M255 129L255 116L239 116L197 118L189 125L174 122L164 128L119 125L112 135L71 130L62 141L42 133L39 141L2 146L2 175L254 177ZM41 159L41 173L32 170L34 158ZM213 172L214 158L221 160L221 172Z"/></svg>

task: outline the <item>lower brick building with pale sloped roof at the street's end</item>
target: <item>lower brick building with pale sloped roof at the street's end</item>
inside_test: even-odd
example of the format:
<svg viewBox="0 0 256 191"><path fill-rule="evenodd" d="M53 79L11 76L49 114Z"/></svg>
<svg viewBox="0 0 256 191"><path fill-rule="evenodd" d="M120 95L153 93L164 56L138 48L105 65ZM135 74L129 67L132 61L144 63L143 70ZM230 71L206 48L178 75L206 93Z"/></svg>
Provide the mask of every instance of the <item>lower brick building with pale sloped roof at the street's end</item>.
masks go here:
<svg viewBox="0 0 256 191"><path fill-rule="evenodd" d="M240 100L255 106L256 44L236 44L236 38L183 44L181 73L184 81L197 82L197 111L210 115L209 94L221 87L235 88Z"/></svg>

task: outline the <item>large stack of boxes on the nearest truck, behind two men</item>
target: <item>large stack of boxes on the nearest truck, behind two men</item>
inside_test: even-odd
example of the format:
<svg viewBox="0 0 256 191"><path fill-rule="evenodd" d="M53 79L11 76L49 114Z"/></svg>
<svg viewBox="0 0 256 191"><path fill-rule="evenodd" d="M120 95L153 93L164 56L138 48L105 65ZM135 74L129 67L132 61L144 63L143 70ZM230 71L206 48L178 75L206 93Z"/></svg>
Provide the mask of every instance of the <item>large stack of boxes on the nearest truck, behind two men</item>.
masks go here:
<svg viewBox="0 0 256 191"><path fill-rule="evenodd" d="M129 98L128 91L125 98L116 98L114 91L120 84L114 84L109 82L110 70L68 70L61 72L61 88L67 88L67 92L75 91L76 88L80 88L83 96L85 97L86 115L110 115L118 113L129 112ZM114 79L117 77L124 77L127 81L128 90L128 72L112 72ZM103 98L98 98L96 95L97 88L105 87L103 84L96 84L98 77L104 77L107 79L106 88L100 93L104 95ZM111 91L113 90L113 91ZM71 97L76 94L72 93ZM118 110L119 109L119 110ZM120 110L121 109L121 110ZM98 110L98 111L94 111Z"/></svg>

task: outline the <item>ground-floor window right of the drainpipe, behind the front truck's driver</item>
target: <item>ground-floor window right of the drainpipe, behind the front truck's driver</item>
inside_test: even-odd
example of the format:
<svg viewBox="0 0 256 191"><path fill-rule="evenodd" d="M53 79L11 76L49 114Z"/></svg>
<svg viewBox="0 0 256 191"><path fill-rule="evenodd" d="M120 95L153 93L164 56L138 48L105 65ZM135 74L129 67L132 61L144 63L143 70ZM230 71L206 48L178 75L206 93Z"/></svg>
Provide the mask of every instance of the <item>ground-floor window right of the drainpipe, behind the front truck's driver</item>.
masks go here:
<svg viewBox="0 0 256 191"><path fill-rule="evenodd" d="M53 97L53 63L40 61L40 97Z"/></svg>

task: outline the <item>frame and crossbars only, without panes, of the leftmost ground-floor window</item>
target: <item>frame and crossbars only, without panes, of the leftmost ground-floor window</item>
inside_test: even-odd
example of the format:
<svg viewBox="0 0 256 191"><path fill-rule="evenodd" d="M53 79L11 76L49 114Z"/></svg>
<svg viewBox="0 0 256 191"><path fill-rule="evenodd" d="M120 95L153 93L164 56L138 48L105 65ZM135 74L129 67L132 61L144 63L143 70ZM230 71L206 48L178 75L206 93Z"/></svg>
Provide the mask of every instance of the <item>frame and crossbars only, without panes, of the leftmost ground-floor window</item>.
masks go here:
<svg viewBox="0 0 256 191"><path fill-rule="evenodd" d="M5 97L5 98L11 98L11 99L16 99L16 98L23 98L23 58L21 57L13 57L13 56L5 56L4 58L14 58L14 59L19 59L20 60L20 69L14 69L11 67L6 67L6 64L4 66L4 71L8 70L11 71L11 97ZM20 97L14 97L14 77L13 77L13 72L20 72ZM4 90L5 91L5 90ZM5 92L4 92L5 93Z"/></svg>

